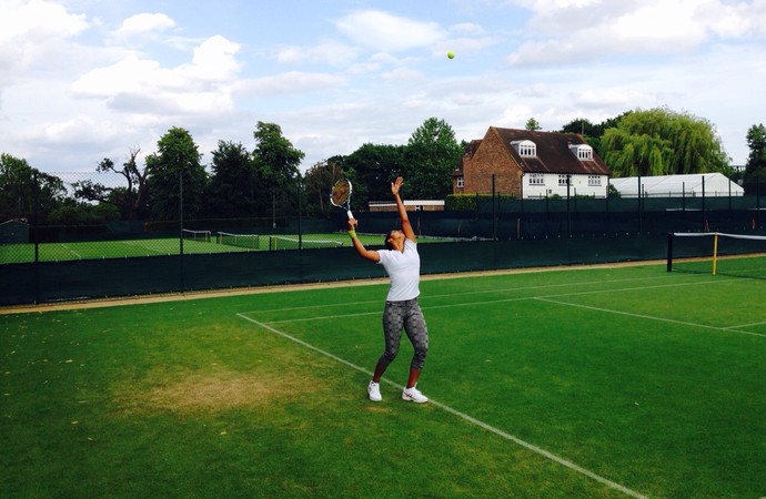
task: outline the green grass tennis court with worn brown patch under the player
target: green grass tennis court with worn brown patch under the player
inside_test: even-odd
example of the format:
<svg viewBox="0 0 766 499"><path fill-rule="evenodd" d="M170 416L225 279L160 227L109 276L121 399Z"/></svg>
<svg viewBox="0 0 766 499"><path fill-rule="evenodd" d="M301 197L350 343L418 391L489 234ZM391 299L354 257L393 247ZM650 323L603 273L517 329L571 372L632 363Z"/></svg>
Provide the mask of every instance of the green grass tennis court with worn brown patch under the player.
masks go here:
<svg viewBox="0 0 766 499"><path fill-rule="evenodd" d="M665 265L0 315L2 497L766 497L766 291ZM6 310L8 312L8 310Z"/></svg>

